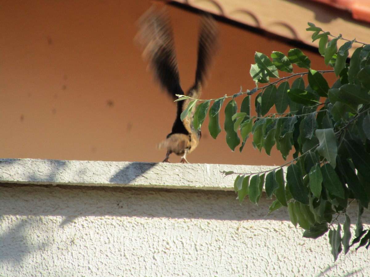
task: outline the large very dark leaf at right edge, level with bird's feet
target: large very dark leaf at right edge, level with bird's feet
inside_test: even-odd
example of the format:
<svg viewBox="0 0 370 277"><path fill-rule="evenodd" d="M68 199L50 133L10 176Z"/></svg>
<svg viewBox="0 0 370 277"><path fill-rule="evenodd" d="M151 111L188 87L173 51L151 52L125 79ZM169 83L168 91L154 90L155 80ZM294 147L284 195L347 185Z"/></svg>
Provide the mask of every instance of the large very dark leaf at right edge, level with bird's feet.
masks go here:
<svg viewBox="0 0 370 277"><path fill-rule="evenodd" d="M370 179L370 154L365 147L355 140L344 141L354 166L367 180Z"/></svg>

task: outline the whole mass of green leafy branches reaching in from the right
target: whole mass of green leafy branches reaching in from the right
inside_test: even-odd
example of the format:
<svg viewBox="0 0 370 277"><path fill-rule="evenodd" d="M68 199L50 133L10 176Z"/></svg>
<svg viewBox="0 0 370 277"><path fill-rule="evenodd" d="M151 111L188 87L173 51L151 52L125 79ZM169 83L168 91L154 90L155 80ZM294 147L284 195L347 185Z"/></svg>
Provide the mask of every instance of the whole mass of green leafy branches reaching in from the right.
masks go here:
<svg viewBox="0 0 370 277"><path fill-rule="evenodd" d="M284 159L292 154L293 160L274 170L224 173L236 174L234 188L240 204L247 195L258 204L265 189L268 198L275 199L269 213L286 207L293 225L305 230L304 237L315 239L328 232L336 260L342 250L347 253L356 243L356 250L370 245L370 230L363 230L361 221L370 202L370 45L355 49L348 63L355 40L345 40L338 48L342 35L333 37L312 23L307 31L313 31L313 41L319 40L319 52L332 69L312 69L310 59L297 48L287 55L274 51L270 58L256 52L256 63L250 68L256 88L211 99L212 105L211 100L204 100L196 107L194 128L201 128L208 113L209 132L218 137L219 113L226 98L231 98L224 109L224 130L232 151L240 145L242 152L252 136L259 151L264 149L270 155L276 147ZM296 67L305 71L294 73ZM288 76L279 77L281 72ZM325 74L335 74L337 81L329 85ZM252 116L250 95L257 92L256 115ZM240 107L235 101L239 96L244 97ZM189 104L184 117L196 101ZM276 113L269 113L272 107ZM350 244L351 219L346 209L354 200L359 213L356 238ZM340 215L344 216L343 226L337 220Z"/></svg>

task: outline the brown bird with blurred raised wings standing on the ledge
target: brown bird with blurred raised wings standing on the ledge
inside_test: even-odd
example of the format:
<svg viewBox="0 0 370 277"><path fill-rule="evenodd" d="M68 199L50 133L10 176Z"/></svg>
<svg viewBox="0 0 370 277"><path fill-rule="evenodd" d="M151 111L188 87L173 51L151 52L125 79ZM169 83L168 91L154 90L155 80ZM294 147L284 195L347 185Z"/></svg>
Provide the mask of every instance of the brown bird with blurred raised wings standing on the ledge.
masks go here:
<svg viewBox="0 0 370 277"><path fill-rule="evenodd" d="M169 155L174 153L181 156L181 163L188 163L186 156L191 153L199 143L201 131L194 128L193 119L195 105L190 116L182 121L181 113L188 107L193 99L199 99L205 79L218 50L218 28L216 21L209 14L201 16L198 35L198 58L196 62L194 85L184 94L181 85L178 64L176 59L174 33L171 20L166 8L149 8L138 20L139 31L136 40L144 48L143 57L148 60L149 68L154 72L154 79L159 83L172 99L176 95L187 95L187 98L177 103L175 122L164 141L157 145L159 149L166 149L163 162L169 163Z"/></svg>

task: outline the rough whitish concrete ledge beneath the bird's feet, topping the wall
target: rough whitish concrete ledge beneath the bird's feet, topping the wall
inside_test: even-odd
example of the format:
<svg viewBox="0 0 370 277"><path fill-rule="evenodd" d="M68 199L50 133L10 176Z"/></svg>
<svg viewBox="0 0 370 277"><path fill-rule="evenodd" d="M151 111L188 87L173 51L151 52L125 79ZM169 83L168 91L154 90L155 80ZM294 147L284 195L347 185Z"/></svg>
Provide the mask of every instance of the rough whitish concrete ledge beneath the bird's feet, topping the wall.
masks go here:
<svg viewBox="0 0 370 277"><path fill-rule="evenodd" d="M222 171L259 172L273 167L107 161L0 159L0 184L52 184L233 190Z"/></svg>

